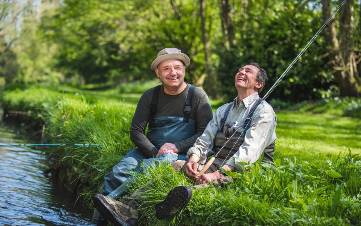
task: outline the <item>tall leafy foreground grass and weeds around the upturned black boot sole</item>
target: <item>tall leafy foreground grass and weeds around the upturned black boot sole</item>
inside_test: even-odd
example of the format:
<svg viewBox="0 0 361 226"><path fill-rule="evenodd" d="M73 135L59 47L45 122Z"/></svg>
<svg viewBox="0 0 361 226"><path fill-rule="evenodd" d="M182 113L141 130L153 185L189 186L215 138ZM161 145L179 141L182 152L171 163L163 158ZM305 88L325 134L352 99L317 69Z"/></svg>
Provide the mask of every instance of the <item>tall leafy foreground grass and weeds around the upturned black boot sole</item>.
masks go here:
<svg viewBox="0 0 361 226"><path fill-rule="evenodd" d="M162 221L154 217L152 206L174 187L192 186L192 181L170 165L149 169L130 188L130 192L147 189L140 197L148 207L139 221L148 225L355 225L361 220L361 161L354 156L312 163L278 158L275 165L261 166L262 170L255 163L232 173L236 179L227 188L193 190L186 209ZM349 166L356 168L350 171ZM333 178L326 173L330 171L343 176ZM345 189L349 180L353 189Z"/></svg>

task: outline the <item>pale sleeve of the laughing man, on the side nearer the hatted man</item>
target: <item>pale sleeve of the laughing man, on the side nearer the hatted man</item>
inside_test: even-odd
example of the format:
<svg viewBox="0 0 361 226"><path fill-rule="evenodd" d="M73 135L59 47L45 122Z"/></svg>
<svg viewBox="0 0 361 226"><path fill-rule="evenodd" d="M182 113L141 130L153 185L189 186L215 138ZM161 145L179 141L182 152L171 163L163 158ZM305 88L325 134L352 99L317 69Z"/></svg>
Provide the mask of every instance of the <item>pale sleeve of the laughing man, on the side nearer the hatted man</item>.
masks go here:
<svg viewBox="0 0 361 226"><path fill-rule="evenodd" d="M214 112L212 120L208 123L202 135L197 138L194 145L188 150L187 159L189 159L192 154L196 154L200 158L198 163L205 164L207 156L214 154L212 148L214 139L218 133L218 122L221 121L219 115L220 108Z"/></svg>

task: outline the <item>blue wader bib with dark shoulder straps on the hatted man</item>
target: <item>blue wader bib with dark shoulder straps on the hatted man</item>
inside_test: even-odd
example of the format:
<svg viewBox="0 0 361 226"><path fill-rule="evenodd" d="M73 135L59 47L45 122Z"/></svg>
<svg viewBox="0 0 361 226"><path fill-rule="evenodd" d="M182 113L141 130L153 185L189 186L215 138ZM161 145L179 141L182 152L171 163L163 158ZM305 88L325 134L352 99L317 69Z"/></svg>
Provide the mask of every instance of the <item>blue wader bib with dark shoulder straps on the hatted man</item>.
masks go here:
<svg viewBox="0 0 361 226"><path fill-rule="evenodd" d="M192 111L192 99L196 86L191 85L188 89L186 102L184 103L183 117L179 116L156 116L157 104L161 85L153 90L151 106L149 108L148 140L157 148L165 142L175 143L186 140L197 132L197 123L190 118Z"/></svg>

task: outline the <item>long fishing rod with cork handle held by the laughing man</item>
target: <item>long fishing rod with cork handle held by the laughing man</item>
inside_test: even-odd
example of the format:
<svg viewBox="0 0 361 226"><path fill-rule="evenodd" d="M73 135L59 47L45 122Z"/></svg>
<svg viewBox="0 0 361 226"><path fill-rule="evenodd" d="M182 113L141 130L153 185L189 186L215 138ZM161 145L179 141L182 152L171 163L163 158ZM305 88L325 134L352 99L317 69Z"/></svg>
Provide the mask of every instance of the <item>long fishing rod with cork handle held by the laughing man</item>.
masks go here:
<svg viewBox="0 0 361 226"><path fill-rule="evenodd" d="M329 19L322 25L322 27L317 31L317 33L312 37L312 39L306 44L306 46L303 48L303 50L299 53L299 55L296 56L296 58L292 61L292 63L287 67L287 69L282 73L282 75L278 78L278 80L273 84L273 86L268 90L268 92L265 94L265 96L261 99L261 101L259 103L261 103L263 100L265 100L269 94L276 88L276 86L279 84L279 82L282 80L282 78L284 76L286 76L286 74L288 73L288 71L290 71L291 67L293 66L293 64L296 63L296 61L302 56L302 54L307 50L307 48L313 43L313 41L317 38L317 36L319 35L319 33L321 33L321 31L326 27L326 25L330 22L330 20L332 19L332 17L334 17L334 15L338 12L338 10L343 6L343 4L346 2L347 0L344 0L339 7L334 11L334 13L332 13L332 15L329 17ZM256 109L256 108L255 108ZM243 123L245 123L245 121L247 120L247 118L249 116L252 115L252 113L255 111L255 109L253 109L253 111L249 112L248 116L243 120L242 123L240 123L239 127L236 129L236 131L234 131L232 133L232 135L226 140L226 142L223 144L222 148L219 149L219 151L206 163L206 165L203 167L203 169L200 171L199 174L197 174L197 177L202 175L206 170L208 170L208 168L210 167L210 165L212 165L214 159L218 156L218 154L223 150L223 148L228 144L228 142L231 140L231 138L236 134L236 132L242 127ZM251 123L251 121L249 121L249 123ZM248 125L248 124L247 124ZM245 128L247 128L247 125L244 127L242 133L244 132ZM241 135L242 135L241 133ZM240 136L238 137L238 140L240 138ZM237 141L238 141L237 140ZM234 148L234 146L236 145L237 141L235 142L235 144L233 145L232 149ZM230 151L230 152L231 152ZM229 152L229 153L230 153ZM227 155L228 157L228 155ZM225 160L226 161L226 160ZM223 163L225 162L223 161ZM222 165L223 165L222 163Z"/></svg>

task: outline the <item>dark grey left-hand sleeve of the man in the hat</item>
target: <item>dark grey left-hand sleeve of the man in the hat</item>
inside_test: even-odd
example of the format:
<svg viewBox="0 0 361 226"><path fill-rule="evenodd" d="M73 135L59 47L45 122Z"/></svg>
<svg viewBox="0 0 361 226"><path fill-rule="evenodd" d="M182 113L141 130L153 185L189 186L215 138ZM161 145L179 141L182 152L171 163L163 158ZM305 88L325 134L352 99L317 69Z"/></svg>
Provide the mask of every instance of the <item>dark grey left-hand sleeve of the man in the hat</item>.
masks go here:
<svg viewBox="0 0 361 226"><path fill-rule="evenodd" d="M154 146L145 136L145 129L147 128L149 120L149 100L147 94L143 93L136 106L134 116L130 125L130 140L135 146L149 158L156 156L159 149Z"/></svg>

